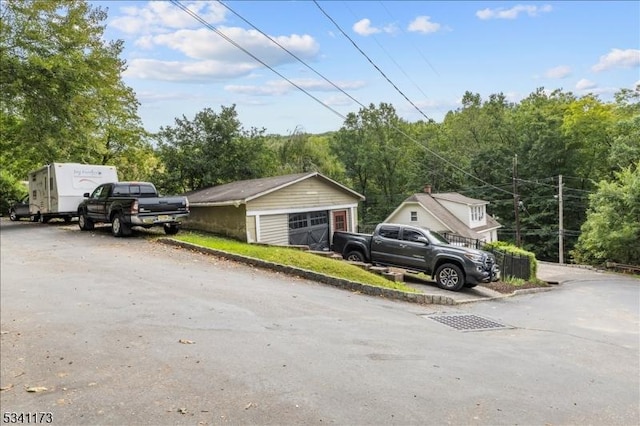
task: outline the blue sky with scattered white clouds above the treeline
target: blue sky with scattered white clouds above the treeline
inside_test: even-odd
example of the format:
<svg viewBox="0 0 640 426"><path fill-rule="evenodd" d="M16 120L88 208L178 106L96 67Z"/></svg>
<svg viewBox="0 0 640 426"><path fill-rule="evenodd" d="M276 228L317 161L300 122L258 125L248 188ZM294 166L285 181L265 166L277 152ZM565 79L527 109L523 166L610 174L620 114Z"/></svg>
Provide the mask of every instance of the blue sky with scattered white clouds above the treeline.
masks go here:
<svg viewBox="0 0 640 426"><path fill-rule="evenodd" d="M90 1L122 39L149 131L235 105L267 134L339 130L393 105L441 122L469 91L602 101L640 84L638 1ZM189 12L185 11L187 9Z"/></svg>

